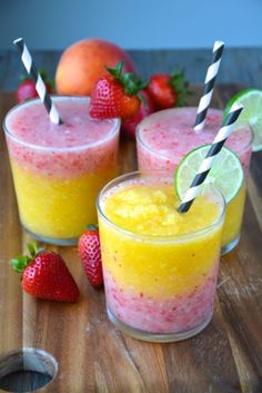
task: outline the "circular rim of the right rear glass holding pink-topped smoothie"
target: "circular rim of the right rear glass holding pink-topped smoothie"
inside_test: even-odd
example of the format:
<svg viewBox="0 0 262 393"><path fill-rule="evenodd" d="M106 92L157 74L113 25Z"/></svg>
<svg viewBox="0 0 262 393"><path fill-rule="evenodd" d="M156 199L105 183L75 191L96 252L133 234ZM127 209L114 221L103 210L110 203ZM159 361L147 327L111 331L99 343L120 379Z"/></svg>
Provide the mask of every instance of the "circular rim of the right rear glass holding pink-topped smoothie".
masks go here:
<svg viewBox="0 0 262 393"><path fill-rule="evenodd" d="M195 112L196 112L196 110L198 110L198 107L191 107L191 106L190 106L190 107L169 108L169 109L163 109L163 110L159 110L159 111L157 111L157 112L150 114L150 115L148 115L144 119L147 119L147 118L150 117L150 116L154 116L155 114L159 114L159 112L179 111L180 109L184 109L184 108L187 108L187 109L195 109ZM213 107L212 107L212 108L210 108L210 109L213 109L213 110L218 110L218 111L223 112L223 110L220 109L220 108L213 108ZM158 157L162 157L162 158L164 158L164 159L169 159L169 160L172 161L172 159L173 159L172 156L168 156L168 155L164 155L164 154L159 153L157 149L153 149L151 146L148 146L148 145L142 140L140 134L141 134L141 127L142 127L141 125L142 125L142 122L143 122L144 119L142 119L142 120L138 124L138 126L137 126L137 128L135 128L135 138L137 138L137 141L140 143L141 146L142 146L145 150L148 150L149 153L154 154L154 155L158 155ZM193 127L192 127L192 128L193 128ZM251 147L251 150L252 150L252 144L253 144L253 139L254 139L254 131L253 131L251 125L249 125L249 126L246 126L246 127L241 127L241 128L239 128L239 129L248 129L248 130L250 131L250 139L249 139L249 143L248 143L246 145L244 145L244 147L242 147L242 148L241 148L240 150L238 150L238 151L232 150L232 149L229 147L229 148L230 148L232 151L234 151L236 155L241 155L242 153L244 153L245 150L248 150L250 147ZM233 129L232 132L231 132L231 135L232 135L233 132L238 132L238 129ZM230 136L229 136L229 137L230 137ZM212 141L210 141L209 144L212 144ZM199 146L201 146L201 145L199 145ZM195 146L195 147L198 147L198 146ZM188 151L188 153L189 153L189 151Z"/></svg>

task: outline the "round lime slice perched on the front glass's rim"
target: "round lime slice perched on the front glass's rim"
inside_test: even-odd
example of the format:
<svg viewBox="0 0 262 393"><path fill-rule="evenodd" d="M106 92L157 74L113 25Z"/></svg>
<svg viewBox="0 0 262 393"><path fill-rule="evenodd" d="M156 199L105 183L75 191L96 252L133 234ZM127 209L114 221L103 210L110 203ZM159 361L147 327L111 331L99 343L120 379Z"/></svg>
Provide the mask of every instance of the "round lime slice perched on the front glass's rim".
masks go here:
<svg viewBox="0 0 262 393"><path fill-rule="evenodd" d="M203 145L191 150L179 164L174 174L175 191L182 199L193 181L211 145ZM214 184L223 194L226 203L239 193L244 178L239 157L229 148L223 147L215 157L203 185Z"/></svg>

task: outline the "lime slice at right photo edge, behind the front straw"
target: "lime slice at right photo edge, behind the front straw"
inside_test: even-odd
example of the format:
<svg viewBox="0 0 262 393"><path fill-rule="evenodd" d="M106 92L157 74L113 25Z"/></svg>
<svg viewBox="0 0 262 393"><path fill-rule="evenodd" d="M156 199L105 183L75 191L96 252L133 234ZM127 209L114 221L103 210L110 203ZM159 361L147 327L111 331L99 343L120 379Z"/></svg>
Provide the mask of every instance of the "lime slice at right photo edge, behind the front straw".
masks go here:
<svg viewBox="0 0 262 393"><path fill-rule="evenodd" d="M253 151L262 150L262 90L246 89L233 96L224 108L224 117L234 102L242 104L243 110L234 129L250 126L254 134Z"/></svg>

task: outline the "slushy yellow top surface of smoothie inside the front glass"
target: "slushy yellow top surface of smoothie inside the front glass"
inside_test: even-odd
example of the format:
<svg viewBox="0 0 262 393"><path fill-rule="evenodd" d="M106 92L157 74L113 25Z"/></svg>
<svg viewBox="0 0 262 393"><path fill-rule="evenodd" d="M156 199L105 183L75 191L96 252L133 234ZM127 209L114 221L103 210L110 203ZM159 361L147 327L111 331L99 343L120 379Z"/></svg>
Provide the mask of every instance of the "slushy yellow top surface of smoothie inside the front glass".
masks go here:
<svg viewBox="0 0 262 393"><path fill-rule="evenodd" d="M218 206L200 196L187 214L178 213L180 200L172 186L131 185L107 202L107 216L120 227L138 234L182 235L212 224Z"/></svg>

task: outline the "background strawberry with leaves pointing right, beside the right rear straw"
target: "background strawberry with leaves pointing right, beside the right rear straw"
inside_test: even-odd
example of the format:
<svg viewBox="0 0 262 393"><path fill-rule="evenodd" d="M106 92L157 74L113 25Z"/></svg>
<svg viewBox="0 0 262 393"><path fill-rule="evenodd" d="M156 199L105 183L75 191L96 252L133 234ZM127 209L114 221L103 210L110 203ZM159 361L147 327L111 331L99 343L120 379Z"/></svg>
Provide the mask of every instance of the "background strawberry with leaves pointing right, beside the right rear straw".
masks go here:
<svg viewBox="0 0 262 393"><path fill-rule="evenodd" d="M182 71L152 75L147 91L158 110L184 106L190 94Z"/></svg>

